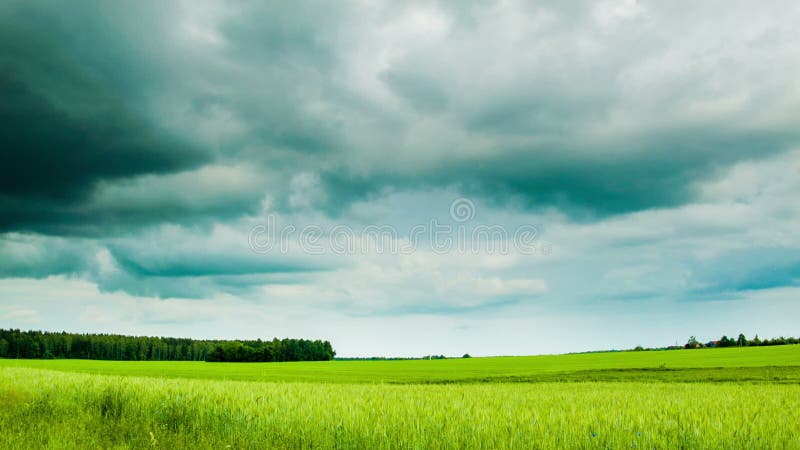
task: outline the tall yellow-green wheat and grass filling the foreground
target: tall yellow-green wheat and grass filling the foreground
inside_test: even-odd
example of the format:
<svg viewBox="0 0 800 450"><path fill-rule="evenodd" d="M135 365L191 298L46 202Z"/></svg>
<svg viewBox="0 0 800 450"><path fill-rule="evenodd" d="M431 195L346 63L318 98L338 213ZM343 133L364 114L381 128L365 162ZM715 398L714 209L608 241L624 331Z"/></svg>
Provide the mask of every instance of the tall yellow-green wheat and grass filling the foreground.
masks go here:
<svg viewBox="0 0 800 450"><path fill-rule="evenodd" d="M800 448L797 366L783 369L795 378L760 381L396 384L121 376L24 364L0 364L0 448ZM348 364L331 362L327 373Z"/></svg>

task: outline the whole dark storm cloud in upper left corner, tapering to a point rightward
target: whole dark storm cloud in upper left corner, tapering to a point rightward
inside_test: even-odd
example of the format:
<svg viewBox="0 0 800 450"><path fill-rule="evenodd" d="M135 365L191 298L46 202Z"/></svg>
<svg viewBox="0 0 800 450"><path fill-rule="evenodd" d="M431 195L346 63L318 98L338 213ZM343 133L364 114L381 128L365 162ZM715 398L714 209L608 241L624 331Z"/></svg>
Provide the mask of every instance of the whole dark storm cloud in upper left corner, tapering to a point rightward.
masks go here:
<svg viewBox="0 0 800 450"><path fill-rule="evenodd" d="M0 10L0 230L101 222L82 213L99 181L210 160L144 114L148 61L76 8Z"/></svg>

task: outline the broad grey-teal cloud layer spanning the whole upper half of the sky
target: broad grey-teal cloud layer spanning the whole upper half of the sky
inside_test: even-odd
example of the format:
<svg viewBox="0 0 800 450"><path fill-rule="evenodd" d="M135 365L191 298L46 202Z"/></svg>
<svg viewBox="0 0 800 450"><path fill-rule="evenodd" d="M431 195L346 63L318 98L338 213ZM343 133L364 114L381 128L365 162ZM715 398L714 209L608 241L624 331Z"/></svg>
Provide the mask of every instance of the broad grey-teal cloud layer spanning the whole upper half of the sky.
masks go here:
<svg viewBox="0 0 800 450"><path fill-rule="evenodd" d="M306 207L296 176L308 173L331 215L386 189L455 187L596 220L691 203L731 165L800 143L791 9L201 3L160 16L107 5L102 20L71 9L63 22L57 8L4 10L5 230L99 233L128 217L257 208L232 190L227 207L179 200L175 214L84 207L109 195L97 189L206 164L268 173L286 209ZM104 36L106 20L119 30L109 39L80 38Z"/></svg>

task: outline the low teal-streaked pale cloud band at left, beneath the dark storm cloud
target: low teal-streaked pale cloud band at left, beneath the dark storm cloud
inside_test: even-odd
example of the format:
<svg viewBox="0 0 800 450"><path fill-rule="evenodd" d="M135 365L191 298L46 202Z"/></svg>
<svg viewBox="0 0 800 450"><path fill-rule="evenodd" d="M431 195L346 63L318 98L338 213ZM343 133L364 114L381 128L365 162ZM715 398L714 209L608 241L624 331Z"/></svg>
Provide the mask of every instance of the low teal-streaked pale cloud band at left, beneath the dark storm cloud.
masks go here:
<svg viewBox="0 0 800 450"><path fill-rule="evenodd" d="M114 240L6 234L0 250L0 279L62 275L91 280L103 291L160 298L249 297L263 285L296 283L346 264L296 249L255 253L246 229L222 226L171 226Z"/></svg>

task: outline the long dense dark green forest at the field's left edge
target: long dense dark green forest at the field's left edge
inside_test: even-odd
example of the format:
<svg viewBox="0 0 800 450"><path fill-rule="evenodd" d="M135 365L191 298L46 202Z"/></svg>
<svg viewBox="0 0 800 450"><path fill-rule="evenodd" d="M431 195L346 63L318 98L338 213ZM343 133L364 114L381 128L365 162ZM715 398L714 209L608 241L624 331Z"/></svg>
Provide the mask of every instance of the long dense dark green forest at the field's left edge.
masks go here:
<svg viewBox="0 0 800 450"><path fill-rule="evenodd" d="M329 361L331 343L307 339L195 340L0 329L0 358L115 361Z"/></svg>

